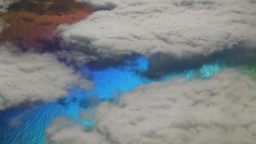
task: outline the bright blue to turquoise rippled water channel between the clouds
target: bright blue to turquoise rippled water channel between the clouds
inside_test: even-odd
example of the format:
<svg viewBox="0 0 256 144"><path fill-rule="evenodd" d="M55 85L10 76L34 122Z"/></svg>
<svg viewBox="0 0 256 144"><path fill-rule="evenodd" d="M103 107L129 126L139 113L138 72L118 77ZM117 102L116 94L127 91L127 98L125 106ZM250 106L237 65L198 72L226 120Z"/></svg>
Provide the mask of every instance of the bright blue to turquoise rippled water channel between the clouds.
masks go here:
<svg viewBox="0 0 256 144"><path fill-rule="evenodd" d="M225 68L225 64L216 61L204 64L200 69L175 71L162 76L159 81L166 81L173 76L184 76L188 80L207 78ZM102 100L113 100L124 92L130 91L138 85L157 80L148 79L141 75L148 70L148 60L139 56L135 60L126 60L119 67L109 67L101 71L94 71L87 67L80 73L94 81L91 91L72 89L69 96L48 104L38 104L27 109L11 109L0 112L0 143L44 143L44 130L50 120L59 115L74 119L86 127L93 125L93 121L84 121L79 112L89 106L96 105ZM16 119L11 124L11 118Z"/></svg>

